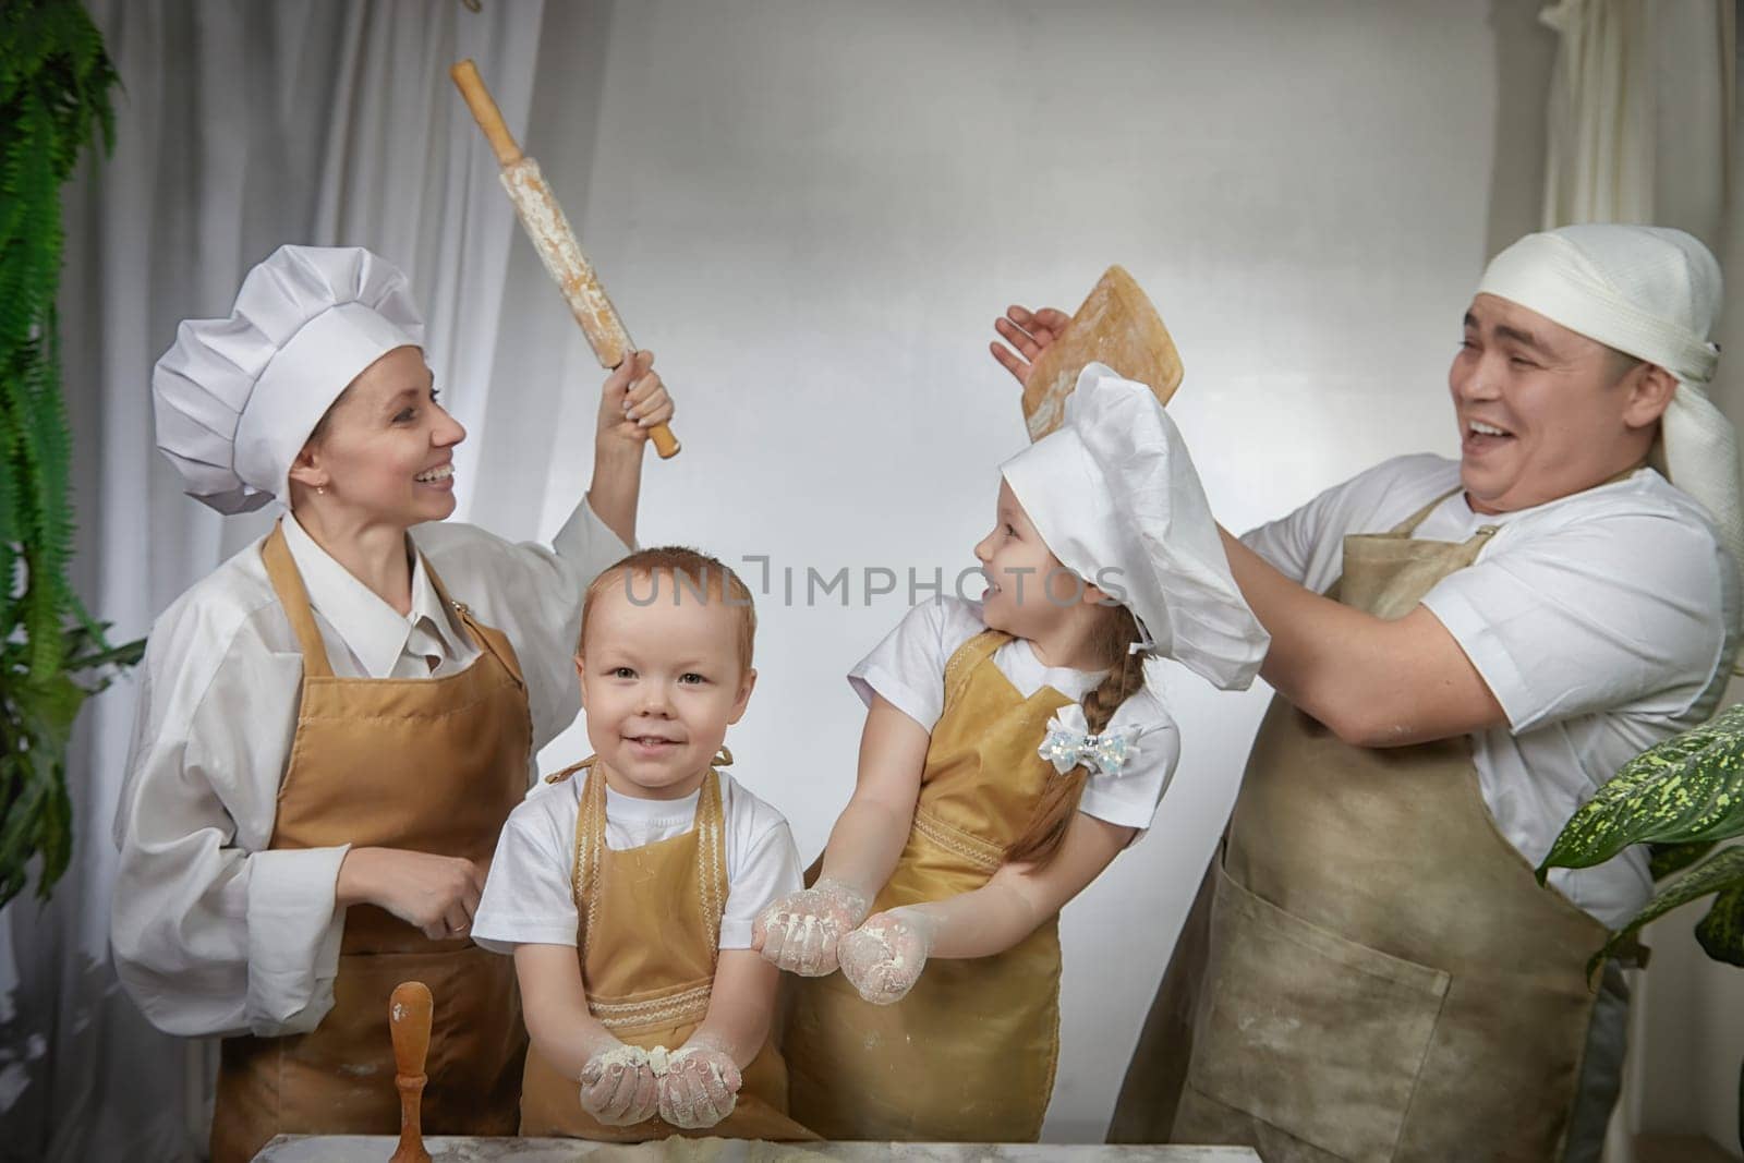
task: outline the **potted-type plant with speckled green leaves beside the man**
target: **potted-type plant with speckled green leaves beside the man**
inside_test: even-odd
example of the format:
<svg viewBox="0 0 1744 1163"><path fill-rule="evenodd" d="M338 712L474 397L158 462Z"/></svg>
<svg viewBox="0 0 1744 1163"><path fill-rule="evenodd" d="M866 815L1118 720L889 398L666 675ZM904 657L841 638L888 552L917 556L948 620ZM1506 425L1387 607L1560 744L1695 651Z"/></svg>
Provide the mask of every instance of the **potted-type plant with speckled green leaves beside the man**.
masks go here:
<svg viewBox="0 0 1744 1163"><path fill-rule="evenodd" d="M1591 868L1631 844L1652 844L1653 879L1666 881L1664 888L1611 933L1587 971L1596 975L1606 957L1634 945L1646 922L1704 896L1714 900L1695 926L1695 940L1714 961L1744 966L1744 846L1723 846L1739 835L1744 835L1744 704L1624 764L1563 825L1538 867L1538 882L1550 868ZM1739 1146L1744 1146L1744 1071L1739 1098Z"/></svg>

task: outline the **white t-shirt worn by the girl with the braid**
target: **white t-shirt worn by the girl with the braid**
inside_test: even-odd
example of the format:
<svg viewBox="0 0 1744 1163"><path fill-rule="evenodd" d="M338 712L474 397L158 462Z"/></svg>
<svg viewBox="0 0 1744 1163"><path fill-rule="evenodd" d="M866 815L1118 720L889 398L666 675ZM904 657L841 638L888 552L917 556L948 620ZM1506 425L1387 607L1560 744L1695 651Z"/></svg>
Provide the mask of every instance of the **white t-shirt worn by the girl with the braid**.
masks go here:
<svg viewBox="0 0 1744 1163"><path fill-rule="evenodd" d="M855 692L872 704L872 694L926 727L930 732L945 708L945 663L964 642L987 629L980 602L933 598L909 610L896 629L877 643L872 654L848 673ZM1012 680L1025 699L1053 687L1067 699L1083 701L1107 671L1083 671L1043 666L1024 638L1012 638L992 656L999 673ZM1181 758L1181 731L1162 699L1141 687L1114 710L1106 731L1137 729L1137 753L1116 776L1092 772L1085 781L1078 809L1125 828L1151 826L1156 804ZM1036 734L1041 746L1043 734Z"/></svg>

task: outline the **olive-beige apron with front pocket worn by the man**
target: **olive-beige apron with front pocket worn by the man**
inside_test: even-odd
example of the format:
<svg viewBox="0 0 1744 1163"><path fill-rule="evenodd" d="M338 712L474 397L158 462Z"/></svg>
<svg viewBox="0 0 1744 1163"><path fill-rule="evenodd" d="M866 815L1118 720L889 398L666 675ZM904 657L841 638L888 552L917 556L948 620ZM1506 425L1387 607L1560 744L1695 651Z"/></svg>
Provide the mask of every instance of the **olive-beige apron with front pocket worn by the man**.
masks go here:
<svg viewBox="0 0 1744 1163"><path fill-rule="evenodd" d="M1444 499L1346 537L1329 596L1397 619L1475 561L1495 527L1411 539ZM1268 1163L1561 1154L1606 931L1496 830L1467 738L1357 748L1275 697L1209 881L1111 1139Z"/></svg>

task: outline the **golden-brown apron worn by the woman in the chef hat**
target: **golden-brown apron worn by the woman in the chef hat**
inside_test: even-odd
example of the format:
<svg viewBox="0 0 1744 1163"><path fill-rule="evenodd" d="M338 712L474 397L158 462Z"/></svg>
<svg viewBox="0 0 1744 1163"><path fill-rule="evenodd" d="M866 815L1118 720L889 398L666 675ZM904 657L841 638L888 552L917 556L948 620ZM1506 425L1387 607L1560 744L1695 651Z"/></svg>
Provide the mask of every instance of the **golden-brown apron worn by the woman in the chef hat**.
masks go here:
<svg viewBox="0 0 1744 1163"><path fill-rule="evenodd" d="M527 790L532 748L527 687L508 638L452 602L426 561L436 593L478 643L478 659L439 678L337 678L281 528L262 558L303 652L270 847L352 844L490 860ZM424 1130L514 1133L527 1034L511 961L467 938L433 942L384 908L352 905L333 1008L321 1025L225 1039L215 1163L251 1160L277 1133L398 1133L387 999L410 978L436 999Z"/></svg>

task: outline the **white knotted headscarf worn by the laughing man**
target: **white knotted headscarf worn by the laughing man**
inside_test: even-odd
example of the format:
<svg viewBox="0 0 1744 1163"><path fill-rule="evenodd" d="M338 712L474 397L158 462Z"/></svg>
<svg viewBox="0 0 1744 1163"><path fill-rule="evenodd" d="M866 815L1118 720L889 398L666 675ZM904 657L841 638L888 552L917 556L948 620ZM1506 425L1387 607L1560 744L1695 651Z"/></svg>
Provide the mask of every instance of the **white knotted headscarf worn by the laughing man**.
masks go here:
<svg viewBox="0 0 1744 1163"><path fill-rule="evenodd" d="M1737 434L1707 398L1720 363L1720 263L1666 227L1594 223L1528 234L1489 262L1479 295L1535 310L1625 356L1666 368L1678 392L1660 418L1666 476L1713 514L1744 563Z"/></svg>

